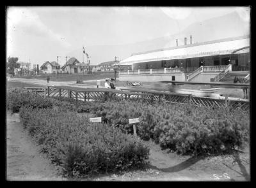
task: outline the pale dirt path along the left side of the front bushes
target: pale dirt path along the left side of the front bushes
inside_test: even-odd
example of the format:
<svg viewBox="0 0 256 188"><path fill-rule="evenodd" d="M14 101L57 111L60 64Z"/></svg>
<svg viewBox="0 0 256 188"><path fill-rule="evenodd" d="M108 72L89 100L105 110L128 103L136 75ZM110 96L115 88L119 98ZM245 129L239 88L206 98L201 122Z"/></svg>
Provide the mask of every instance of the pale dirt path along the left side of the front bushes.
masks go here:
<svg viewBox="0 0 256 188"><path fill-rule="evenodd" d="M40 154L35 142L20 124L19 115L6 117L7 180L62 180L56 167Z"/></svg>

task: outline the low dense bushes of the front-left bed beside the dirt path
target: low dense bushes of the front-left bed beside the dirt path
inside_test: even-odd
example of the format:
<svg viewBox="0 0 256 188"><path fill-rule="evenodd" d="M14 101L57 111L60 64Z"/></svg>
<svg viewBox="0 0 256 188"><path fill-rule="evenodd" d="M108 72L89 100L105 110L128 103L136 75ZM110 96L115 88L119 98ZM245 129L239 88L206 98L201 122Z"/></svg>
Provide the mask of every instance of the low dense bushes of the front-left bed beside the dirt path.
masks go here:
<svg viewBox="0 0 256 188"><path fill-rule="evenodd" d="M149 149L140 138L108 124L90 123L74 112L23 106L20 117L42 152L68 177L141 168L148 159Z"/></svg>

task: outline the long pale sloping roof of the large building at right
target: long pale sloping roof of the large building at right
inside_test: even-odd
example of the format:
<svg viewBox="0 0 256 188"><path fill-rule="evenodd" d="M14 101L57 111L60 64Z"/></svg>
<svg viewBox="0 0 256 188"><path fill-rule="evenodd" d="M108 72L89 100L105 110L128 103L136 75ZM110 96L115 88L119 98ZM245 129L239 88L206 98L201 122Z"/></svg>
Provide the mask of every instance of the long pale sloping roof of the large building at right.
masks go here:
<svg viewBox="0 0 256 188"><path fill-rule="evenodd" d="M223 40L207 41L204 43L195 43L179 47L140 52L132 54L131 57L120 61L120 64L231 54L238 48L248 46L250 46L249 36L239 36L236 38L227 38ZM244 53L244 51L246 50L241 50L237 53Z"/></svg>

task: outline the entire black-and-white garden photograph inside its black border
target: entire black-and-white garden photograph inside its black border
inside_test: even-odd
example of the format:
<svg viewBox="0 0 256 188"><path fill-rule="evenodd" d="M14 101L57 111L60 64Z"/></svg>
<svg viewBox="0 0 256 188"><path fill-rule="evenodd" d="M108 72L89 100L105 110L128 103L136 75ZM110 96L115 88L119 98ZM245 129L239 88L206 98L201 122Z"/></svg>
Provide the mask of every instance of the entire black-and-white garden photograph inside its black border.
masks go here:
<svg viewBox="0 0 256 188"><path fill-rule="evenodd" d="M8 182L250 182L252 6L6 6Z"/></svg>

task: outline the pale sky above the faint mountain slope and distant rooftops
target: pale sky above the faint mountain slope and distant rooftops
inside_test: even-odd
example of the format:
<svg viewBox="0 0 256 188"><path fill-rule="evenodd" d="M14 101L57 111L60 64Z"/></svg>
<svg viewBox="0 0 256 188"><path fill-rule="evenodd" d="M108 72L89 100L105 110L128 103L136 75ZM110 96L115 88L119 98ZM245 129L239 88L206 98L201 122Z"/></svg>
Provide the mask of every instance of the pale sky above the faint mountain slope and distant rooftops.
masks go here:
<svg viewBox="0 0 256 188"><path fill-rule="evenodd" d="M77 48L151 40L234 11L250 21L248 7L10 6L6 57L41 65L58 55L64 62Z"/></svg>

